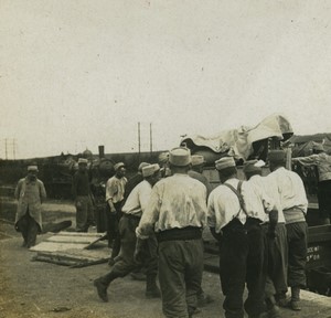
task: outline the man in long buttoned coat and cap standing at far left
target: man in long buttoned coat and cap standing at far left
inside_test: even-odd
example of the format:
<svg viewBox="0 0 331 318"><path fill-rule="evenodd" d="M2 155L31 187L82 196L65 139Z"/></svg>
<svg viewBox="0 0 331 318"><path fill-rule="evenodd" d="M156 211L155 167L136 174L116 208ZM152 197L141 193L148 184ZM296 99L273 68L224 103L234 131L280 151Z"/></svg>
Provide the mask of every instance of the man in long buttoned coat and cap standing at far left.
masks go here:
<svg viewBox="0 0 331 318"><path fill-rule="evenodd" d="M22 233L23 247L35 245L36 234L42 231L42 202L46 199L44 183L36 178L38 167L29 166L28 176L19 180L14 197L18 200L15 230Z"/></svg>

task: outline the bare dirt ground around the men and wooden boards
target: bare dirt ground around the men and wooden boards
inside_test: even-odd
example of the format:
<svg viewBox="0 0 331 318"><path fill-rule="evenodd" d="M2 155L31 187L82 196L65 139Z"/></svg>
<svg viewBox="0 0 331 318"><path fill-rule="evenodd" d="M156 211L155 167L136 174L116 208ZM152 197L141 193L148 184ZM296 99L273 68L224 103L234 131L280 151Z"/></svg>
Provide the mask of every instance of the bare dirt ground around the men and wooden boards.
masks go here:
<svg viewBox="0 0 331 318"><path fill-rule="evenodd" d="M83 268L32 262L35 252L21 247L22 239L10 220L14 215L12 202L0 201L0 317L50 318L161 318L161 300L145 298L145 283L130 276L111 283L109 303L97 297L93 280L109 271L107 264ZM49 202L44 220L74 220L70 202ZM3 222L3 220L7 220ZM8 221L9 220L9 221ZM50 234L38 236L38 243ZM196 318L223 317L223 295L216 274L204 272L203 288L213 296ZM295 314L284 309L284 317L331 317L331 307L306 301L306 309Z"/></svg>

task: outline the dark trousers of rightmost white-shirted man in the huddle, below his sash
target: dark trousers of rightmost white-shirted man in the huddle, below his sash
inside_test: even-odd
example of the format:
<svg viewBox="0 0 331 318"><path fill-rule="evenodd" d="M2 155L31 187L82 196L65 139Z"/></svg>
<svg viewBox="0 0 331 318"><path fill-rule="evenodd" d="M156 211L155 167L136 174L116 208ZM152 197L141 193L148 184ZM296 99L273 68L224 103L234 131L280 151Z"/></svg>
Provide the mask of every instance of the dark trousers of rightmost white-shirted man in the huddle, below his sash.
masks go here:
<svg viewBox="0 0 331 318"><path fill-rule="evenodd" d="M306 287L307 233L306 222L286 224L288 242L288 286Z"/></svg>

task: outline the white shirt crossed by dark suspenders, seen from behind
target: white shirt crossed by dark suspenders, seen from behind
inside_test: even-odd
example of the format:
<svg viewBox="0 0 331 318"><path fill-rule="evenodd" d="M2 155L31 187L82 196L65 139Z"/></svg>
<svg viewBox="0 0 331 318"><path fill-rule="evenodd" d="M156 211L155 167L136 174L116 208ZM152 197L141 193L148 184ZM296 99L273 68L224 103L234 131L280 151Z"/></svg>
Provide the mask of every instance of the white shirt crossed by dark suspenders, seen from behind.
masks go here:
<svg viewBox="0 0 331 318"><path fill-rule="evenodd" d="M225 183L237 189L239 180L232 178ZM245 202L245 210L248 216L265 220L266 211L270 212L274 209L273 199L268 198L265 192L257 193L257 190L247 181L242 184L242 195ZM209 198L207 203L207 223L210 227L215 227L215 232L228 224L234 218L237 218L243 224L246 223L247 215L241 208L238 197L226 186L221 184L215 188Z"/></svg>

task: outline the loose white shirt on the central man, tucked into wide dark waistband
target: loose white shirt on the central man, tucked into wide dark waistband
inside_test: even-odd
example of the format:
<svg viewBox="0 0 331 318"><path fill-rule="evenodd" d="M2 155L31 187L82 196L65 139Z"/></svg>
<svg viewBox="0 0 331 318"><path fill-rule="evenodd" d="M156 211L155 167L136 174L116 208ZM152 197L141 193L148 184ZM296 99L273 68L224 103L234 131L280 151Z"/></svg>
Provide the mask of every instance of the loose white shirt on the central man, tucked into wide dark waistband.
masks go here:
<svg viewBox="0 0 331 318"><path fill-rule="evenodd" d="M188 174L175 173L154 184L136 233L146 239L152 231L204 227L205 224L205 186Z"/></svg>

